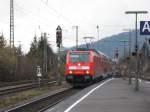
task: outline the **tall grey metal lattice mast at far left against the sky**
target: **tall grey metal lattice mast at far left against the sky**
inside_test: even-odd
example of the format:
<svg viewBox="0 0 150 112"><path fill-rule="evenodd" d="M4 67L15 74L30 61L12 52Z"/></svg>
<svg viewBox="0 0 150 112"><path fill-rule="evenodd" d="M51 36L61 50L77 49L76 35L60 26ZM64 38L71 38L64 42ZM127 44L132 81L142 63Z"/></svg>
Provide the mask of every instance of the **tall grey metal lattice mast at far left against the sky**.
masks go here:
<svg viewBox="0 0 150 112"><path fill-rule="evenodd" d="M14 0L10 0L10 54L14 55Z"/></svg>

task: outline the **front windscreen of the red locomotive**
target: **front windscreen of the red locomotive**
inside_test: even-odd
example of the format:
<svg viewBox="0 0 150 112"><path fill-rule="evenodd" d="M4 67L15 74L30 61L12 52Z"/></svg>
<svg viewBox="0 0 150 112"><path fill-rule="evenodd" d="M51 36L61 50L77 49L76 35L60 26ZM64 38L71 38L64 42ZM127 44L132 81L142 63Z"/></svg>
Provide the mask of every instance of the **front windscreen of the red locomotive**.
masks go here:
<svg viewBox="0 0 150 112"><path fill-rule="evenodd" d="M70 53L71 62L88 62L89 53Z"/></svg>

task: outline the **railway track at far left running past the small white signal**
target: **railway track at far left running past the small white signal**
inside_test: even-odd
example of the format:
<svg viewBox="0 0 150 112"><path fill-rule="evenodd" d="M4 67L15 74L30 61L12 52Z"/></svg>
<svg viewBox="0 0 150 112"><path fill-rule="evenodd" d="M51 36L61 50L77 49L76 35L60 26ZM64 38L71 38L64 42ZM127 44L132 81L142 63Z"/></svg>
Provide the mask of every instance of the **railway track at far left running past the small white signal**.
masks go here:
<svg viewBox="0 0 150 112"><path fill-rule="evenodd" d="M41 81L40 85L46 85L46 84L54 84L56 83L56 81ZM36 88L39 87L39 83L35 82L35 83L28 83L28 84L22 84L22 85L16 85L16 86L8 86L8 87L3 87L0 88L0 96L2 95L8 95L11 93L15 93L15 92L21 92L27 89L32 89L32 88Z"/></svg>

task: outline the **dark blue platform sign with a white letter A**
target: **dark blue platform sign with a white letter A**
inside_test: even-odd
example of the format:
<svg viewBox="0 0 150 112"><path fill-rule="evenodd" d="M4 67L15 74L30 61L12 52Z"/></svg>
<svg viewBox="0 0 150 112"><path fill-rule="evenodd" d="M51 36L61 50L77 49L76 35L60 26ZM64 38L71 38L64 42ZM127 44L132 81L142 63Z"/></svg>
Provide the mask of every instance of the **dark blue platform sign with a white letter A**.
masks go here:
<svg viewBox="0 0 150 112"><path fill-rule="evenodd" d="M150 21L140 21L140 35L150 35Z"/></svg>

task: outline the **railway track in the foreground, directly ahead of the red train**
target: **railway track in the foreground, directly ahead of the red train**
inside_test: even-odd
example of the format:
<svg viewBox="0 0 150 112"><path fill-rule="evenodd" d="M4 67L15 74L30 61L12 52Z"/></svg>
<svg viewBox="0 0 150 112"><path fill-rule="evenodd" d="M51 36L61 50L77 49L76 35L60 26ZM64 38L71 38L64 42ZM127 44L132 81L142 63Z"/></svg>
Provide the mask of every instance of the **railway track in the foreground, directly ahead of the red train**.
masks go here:
<svg viewBox="0 0 150 112"><path fill-rule="evenodd" d="M4 110L3 112L43 112L79 91L79 89L72 87L57 90L53 93L32 99L19 106Z"/></svg>

